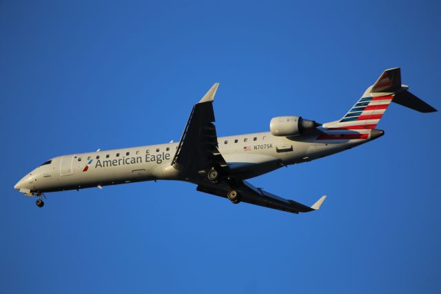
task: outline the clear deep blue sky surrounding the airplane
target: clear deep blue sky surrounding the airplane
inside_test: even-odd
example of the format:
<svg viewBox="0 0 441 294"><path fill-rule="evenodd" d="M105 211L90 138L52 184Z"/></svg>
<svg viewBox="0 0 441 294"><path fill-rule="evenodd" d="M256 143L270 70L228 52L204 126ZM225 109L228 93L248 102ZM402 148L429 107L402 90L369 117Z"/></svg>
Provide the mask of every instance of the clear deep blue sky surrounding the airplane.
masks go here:
<svg viewBox="0 0 441 294"><path fill-rule="evenodd" d="M0 293L440 293L439 113L250 182L291 215L191 184L13 190L57 155L179 139L214 82L218 135L340 118L382 70L440 109L438 1L1 1Z"/></svg>

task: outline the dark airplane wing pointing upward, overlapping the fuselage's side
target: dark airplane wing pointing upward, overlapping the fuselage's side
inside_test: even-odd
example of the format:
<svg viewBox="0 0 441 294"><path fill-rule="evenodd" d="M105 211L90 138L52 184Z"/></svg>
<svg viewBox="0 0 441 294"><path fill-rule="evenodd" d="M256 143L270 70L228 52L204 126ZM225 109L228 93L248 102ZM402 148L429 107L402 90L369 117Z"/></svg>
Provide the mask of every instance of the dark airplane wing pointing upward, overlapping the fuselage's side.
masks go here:
<svg viewBox="0 0 441 294"><path fill-rule="evenodd" d="M213 124L213 101L218 86L218 83L214 84L193 107L172 160L172 166L188 177L214 166L228 168L218 150L218 137Z"/></svg>

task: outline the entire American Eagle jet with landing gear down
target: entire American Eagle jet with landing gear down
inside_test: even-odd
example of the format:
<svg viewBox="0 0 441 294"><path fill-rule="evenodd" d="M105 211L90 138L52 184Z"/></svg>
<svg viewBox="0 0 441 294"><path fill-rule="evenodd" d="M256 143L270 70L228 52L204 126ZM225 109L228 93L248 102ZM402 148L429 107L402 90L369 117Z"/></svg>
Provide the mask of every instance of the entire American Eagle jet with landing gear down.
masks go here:
<svg viewBox="0 0 441 294"><path fill-rule="evenodd" d="M401 84L400 68L385 70L367 88L349 112L337 121L318 124L302 117L274 117L269 132L217 137L213 101L214 84L192 109L178 143L63 155L45 161L25 175L14 188L25 196L43 193L172 179L191 182L196 190L290 213L317 210L273 195L245 179L290 164L300 164L348 150L384 135L376 129L391 101L420 112L435 112Z"/></svg>

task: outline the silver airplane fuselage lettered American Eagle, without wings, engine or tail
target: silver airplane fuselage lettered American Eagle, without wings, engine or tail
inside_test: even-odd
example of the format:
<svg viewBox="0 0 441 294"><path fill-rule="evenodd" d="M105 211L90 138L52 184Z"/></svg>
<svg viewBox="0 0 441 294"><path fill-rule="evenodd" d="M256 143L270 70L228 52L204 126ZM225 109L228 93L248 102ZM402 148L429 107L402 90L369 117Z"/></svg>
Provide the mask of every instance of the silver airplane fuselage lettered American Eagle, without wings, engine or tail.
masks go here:
<svg viewBox="0 0 441 294"><path fill-rule="evenodd" d="M364 133L366 139L337 140L335 143L319 140L318 133L307 137L252 133L218 137L218 148L231 175L249 179L283 166L338 153L382 135L378 130L365 130ZM198 182L172 168L177 148L178 143L168 143L54 157L25 175L14 188L45 193L157 179Z"/></svg>

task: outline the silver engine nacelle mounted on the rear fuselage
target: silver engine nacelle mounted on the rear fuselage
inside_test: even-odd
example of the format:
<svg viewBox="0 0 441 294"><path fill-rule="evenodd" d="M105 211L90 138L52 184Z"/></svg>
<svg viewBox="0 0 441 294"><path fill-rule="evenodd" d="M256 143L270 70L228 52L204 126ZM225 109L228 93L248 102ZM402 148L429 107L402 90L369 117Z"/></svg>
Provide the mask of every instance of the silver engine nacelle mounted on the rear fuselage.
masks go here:
<svg viewBox="0 0 441 294"><path fill-rule="evenodd" d="M320 124L302 117L274 117L269 122L271 134L278 137L300 136L305 130L313 130Z"/></svg>

